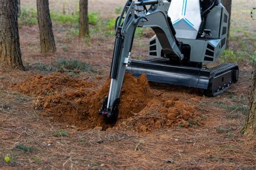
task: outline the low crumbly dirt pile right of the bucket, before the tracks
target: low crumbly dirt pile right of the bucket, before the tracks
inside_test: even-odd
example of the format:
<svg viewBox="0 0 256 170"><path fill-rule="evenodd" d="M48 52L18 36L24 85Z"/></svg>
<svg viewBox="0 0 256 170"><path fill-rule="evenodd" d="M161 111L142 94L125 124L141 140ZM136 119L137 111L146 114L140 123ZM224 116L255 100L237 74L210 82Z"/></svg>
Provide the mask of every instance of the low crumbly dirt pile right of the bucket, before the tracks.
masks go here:
<svg viewBox="0 0 256 170"><path fill-rule="evenodd" d="M122 125L137 132L146 132L158 128L200 126L204 122L193 106L173 97L150 100L144 110L120 123L121 127Z"/></svg>

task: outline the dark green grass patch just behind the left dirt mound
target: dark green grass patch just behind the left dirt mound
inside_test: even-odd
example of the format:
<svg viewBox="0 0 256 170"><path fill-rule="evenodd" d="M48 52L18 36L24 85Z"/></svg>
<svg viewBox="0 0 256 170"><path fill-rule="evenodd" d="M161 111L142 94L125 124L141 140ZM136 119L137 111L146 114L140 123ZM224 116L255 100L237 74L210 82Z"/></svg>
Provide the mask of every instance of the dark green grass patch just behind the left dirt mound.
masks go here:
<svg viewBox="0 0 256 170"><path fill-rule="evenodd" d="M72 71L83 71L83 72L97 72L92 69L89 64L80 62L76 59L60 59L57 63L57 68L60 70L72 70Z"/></svg>

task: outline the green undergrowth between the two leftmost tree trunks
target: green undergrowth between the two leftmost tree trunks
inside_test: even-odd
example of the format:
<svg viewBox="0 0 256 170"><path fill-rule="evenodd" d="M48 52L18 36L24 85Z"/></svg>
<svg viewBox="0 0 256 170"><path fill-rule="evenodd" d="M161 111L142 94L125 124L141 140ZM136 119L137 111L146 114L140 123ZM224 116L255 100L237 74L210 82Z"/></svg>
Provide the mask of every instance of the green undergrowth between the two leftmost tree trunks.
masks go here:
<svg viewBox="0 0 256 170"><path fill-rule="evenodd" d="M37 24L37 11L35 9L22 8L21 15L18 19L19 25L35 25Z"/></svg>

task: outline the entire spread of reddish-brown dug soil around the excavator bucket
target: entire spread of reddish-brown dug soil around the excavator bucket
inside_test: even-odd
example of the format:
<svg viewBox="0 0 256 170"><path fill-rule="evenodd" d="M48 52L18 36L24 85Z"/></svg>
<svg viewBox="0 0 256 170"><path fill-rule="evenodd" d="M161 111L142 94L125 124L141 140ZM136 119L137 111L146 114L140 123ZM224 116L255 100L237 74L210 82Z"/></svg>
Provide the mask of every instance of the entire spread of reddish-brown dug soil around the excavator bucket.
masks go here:
<svg viewBox="0 0 256 170"><path fill-rule="evenodd" d="M204 122L194 106L178 97L167 98L151 89L146 74L139 78L126 73L120 96L117 124L106 125L98 114L109 92L110 79L97 89L93 81L53 73L37 75L10 87L32 96L33 107L56 123L68 123L80 129L130 127L137 132L158 128L200 126Z"/></svg>

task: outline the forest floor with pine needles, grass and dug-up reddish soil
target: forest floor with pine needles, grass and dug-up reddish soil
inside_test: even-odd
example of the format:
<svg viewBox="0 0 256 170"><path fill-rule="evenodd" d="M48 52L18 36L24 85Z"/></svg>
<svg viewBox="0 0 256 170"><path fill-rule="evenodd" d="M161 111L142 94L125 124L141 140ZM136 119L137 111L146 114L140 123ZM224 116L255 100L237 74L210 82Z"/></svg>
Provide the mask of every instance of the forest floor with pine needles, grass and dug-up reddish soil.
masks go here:
<svg viewBox="0 0 256 170"><path fill-rule="evenodd" d="M255 169L255 136L240 133L255 58L256 22L250 16L255 3L233 0L230 50L217 62L239 64L237 84L209 98L197 89L127 74L119 120L106 126L97 111L109 86L112 18L125 1L90 2L97 17L83 41L72 21L78 1L50 1L56 54L40 53L30 10L35 2L22 2L28 14L20 17L19 35L27 71L0 66L1 169ZM133 58L147 58L152 35L137 31Z"/></svg>

